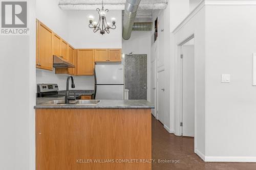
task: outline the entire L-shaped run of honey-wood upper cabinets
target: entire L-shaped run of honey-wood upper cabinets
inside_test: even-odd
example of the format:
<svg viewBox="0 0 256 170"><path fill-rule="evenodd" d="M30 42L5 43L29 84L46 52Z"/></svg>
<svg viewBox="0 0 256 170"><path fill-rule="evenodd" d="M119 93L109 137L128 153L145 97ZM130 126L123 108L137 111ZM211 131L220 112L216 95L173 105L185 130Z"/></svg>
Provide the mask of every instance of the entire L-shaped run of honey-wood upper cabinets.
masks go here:
<svg viewBox="0 0 256 170"><path fill-rule="evenodd" d="M36 68L53 70L53 55L75 65L55 68L55 74L93 76L95 62L121 62L121 49L75 49L36 19Z"/></svg>

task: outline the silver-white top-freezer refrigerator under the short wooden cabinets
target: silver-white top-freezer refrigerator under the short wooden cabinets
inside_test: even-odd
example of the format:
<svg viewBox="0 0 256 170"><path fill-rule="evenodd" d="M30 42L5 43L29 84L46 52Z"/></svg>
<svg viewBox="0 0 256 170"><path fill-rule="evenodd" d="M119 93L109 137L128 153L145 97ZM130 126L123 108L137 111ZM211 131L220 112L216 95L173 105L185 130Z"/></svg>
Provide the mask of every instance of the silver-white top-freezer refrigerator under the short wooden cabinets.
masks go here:
<svg viewBox="0 0 256 170"><path fill-rule="evenodd" d="M95 65L96 100L124 99L124 65Z"/></svg>

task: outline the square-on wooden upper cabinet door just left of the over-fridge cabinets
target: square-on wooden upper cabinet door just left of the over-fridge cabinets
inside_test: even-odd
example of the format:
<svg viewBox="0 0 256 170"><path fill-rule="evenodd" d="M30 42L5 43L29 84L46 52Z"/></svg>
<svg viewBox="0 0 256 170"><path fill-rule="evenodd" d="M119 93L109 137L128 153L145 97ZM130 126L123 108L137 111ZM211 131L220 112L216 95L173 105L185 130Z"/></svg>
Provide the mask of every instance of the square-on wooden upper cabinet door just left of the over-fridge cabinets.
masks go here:
<svg viewBox="0 0 256 170"><path fill-rule="evenodd" d="M77 51L77 75L90 76L94 74L94 50L83 49Z"/></svg>

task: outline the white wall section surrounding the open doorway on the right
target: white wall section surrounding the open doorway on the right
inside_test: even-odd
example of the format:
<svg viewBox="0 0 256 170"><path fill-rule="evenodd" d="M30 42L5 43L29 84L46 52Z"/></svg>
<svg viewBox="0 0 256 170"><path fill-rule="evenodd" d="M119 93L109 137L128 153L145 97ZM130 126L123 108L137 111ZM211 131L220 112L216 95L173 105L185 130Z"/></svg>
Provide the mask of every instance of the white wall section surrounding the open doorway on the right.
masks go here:
<svg viewBox="0 0 256 170"><path fill-rule="evenodd" d="M173 120L174 133L181 135L181 113L182 113L182 81L181 81L181 59L179 55L179 44L191 35L195 35L195 151L205 154L205 8L199 8L189 19L183 22L171 35L170 56L170 94L171 112L170 119Z"/></svg>

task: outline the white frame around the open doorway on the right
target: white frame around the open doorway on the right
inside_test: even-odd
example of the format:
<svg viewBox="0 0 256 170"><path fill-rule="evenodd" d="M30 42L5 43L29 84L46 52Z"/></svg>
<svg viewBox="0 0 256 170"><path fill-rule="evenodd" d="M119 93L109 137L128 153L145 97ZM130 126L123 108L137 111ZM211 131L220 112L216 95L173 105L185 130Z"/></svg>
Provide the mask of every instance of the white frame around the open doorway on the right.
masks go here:
<svg viewBox="0 0 256 170"><path fill-rule="evenodd" d="M182 136L182 127L180 126L180 123L182 122L182 113L183 113L183 62L182 62L182 59L181 59L181 55L182 55L182 45L184 45L186 42L190 41L191 39L195 39L196 41L196 38L195 38L195 35L194 33L191 34L190 36L188 36L187 38L185 38L183 41L181 41L177 47L176 47L176 50L177 50L177 67L178 67L178 89L177 89L177 117L176 117L176 129L177 129L177 132L176 132L176 135L177 136ZM195 45L196 43L194 44L194 48L195 48ZM196 48L195 48L195 51L194 51L194 58L196 58ZM195 61L194 60L194 72L195 72L195 79L196 79L196 65L195 65ZM196 131L196 127L197 127L197 113L196 113L196 99L197 99L197 96L196 96L196 80L195 80L195 118L194 118L194 149L196 150L196 141L197 141L197 131Z"/></svg>

